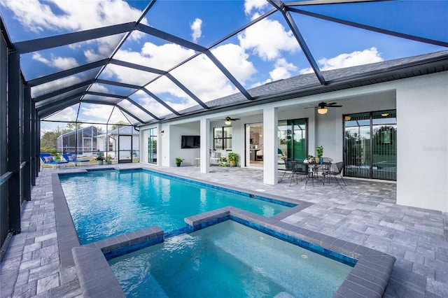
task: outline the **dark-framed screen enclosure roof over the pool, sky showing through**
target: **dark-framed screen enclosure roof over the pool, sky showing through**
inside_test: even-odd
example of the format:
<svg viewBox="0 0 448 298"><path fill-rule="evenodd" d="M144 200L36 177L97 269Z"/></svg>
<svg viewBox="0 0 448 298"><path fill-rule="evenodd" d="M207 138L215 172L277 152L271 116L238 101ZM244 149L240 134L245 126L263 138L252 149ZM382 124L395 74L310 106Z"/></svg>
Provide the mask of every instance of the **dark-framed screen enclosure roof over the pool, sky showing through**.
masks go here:
<svg viewBox="0 0 448 298"><path fill-rule="evenodd" d="M0 8L41 120L125 117L138 126L448 59L447 1L0 0ZM376 62L384 67L360 66Z"/></svg>

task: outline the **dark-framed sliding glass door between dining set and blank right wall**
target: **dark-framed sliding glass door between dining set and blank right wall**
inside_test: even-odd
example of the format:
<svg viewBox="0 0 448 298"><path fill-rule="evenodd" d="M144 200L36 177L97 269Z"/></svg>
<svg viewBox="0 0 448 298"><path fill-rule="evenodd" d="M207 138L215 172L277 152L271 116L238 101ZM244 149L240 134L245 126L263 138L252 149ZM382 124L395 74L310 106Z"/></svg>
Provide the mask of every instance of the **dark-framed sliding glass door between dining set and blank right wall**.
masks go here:
<svg viewBox="0 0 448 298"><path fill-rule="evenodd" d="M396 111L344 116L345 176L396 180Z"/></svg>

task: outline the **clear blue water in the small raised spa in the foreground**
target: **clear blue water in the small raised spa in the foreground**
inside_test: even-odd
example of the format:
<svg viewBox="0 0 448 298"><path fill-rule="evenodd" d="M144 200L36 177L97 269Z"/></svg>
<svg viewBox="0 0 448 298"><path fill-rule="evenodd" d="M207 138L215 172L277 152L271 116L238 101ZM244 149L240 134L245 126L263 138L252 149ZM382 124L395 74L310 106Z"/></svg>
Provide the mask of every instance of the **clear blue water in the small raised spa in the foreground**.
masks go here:
<svg viewBox="0 0 448 298"><path fill-rule="evenodd" d="M232 220L109 264L127 297L332 297L352 269Z"/></svg>

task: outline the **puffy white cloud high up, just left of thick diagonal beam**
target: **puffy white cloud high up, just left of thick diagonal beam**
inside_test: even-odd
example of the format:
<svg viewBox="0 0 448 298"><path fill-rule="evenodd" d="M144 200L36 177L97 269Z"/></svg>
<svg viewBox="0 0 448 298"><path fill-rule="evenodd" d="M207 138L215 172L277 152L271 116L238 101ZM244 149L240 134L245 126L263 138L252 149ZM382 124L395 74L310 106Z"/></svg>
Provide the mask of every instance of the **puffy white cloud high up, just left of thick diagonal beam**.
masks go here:
<svg viewBox="0 0 448 298"><path fill-rule="evenodd" d="M271 61L281 57L281 51L295 52L300 47L292 31L286 31L275 20L260 20L238 34L240 45L251 50L263 60Z"/></svg>

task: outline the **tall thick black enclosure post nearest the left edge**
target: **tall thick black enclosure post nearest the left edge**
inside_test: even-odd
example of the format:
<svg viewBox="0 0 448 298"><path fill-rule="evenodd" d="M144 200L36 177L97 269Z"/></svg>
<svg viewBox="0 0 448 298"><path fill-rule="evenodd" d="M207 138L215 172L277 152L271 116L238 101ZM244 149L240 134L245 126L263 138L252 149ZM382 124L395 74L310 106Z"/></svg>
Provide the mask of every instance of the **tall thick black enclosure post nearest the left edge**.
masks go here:
<svg viewBox="0 0 448 298"><path fill-rule="evenodd" d="M20 233L20 55L8 53L8 180L9 229Z"/></svg>

